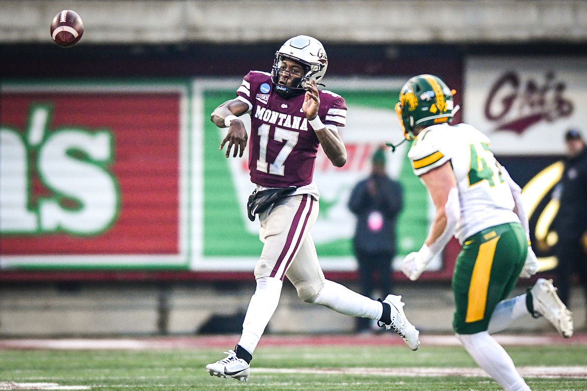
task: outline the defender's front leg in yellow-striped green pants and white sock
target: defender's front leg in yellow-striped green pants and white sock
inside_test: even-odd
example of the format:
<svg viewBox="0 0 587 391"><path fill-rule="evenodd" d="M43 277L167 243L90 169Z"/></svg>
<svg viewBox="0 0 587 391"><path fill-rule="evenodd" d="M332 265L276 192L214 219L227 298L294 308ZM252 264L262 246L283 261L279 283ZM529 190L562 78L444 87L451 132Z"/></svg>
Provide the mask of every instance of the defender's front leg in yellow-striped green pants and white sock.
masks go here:
<svg viewBox="0 0 587 391"><path fill-rule="evenodd" d="M529 387L487 327L524 264L527 244L520 239L523 234L521 226L505 224L471 236L457 257L453 275L454 331L475 362L511 391Z"/></svg>

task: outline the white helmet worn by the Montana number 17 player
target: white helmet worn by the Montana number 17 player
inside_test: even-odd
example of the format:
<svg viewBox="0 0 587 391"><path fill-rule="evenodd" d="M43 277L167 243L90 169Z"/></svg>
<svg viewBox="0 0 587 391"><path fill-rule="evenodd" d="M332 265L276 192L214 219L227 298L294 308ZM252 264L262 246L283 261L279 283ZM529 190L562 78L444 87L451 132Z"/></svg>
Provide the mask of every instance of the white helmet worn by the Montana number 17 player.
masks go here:
<svg viewBox="0 0 587 391"><path fill-rule="evenodd" d="M285 58L301 63L305 68L305 75L299 81L297 86L284 87L277 84L279 77L279 65ZM303 89L306 81L312 78L316 83L322 80L328 67L328 57L322 43L308 35L298 35L288 39L281 48L275 52L275 60L271 69L271 79L275 85L275 91L279 96L288 98L301 95L305 92Z"/></svg>

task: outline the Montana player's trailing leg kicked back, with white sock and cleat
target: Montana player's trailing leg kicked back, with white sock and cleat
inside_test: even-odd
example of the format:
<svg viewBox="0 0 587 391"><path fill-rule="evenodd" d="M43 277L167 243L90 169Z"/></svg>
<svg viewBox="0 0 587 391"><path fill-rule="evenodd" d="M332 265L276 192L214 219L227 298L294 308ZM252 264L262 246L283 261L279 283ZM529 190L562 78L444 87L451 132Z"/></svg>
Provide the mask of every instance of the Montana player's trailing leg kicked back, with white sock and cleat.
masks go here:
<svg viewBox="0 0 587 391"><path fill-rule="evenodd" d="M387 295L382 302L372 300L349 288L326 280L318 263L316 247L308 234L294 261L286 271L299 297L309 303L323 305L340 314L376 319L402 336L406 345L416 350L420 344L419 332L403 312L402 297Z"/></svg>

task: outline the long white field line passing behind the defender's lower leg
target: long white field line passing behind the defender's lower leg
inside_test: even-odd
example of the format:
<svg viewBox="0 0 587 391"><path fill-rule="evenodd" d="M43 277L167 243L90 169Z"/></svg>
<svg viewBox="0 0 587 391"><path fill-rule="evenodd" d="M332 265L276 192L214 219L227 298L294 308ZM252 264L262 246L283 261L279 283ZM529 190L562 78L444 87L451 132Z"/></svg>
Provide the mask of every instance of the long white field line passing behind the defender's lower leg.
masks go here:
<svg viewBox="0 0 587 391"><path fill-rule="evenodd" d="M518 372L524 378L587 379L587 366L521 366ZM303 373L308 375L379 375L379 376L466 376L488 378L481 368L251 368L252 373Z"/></svg>

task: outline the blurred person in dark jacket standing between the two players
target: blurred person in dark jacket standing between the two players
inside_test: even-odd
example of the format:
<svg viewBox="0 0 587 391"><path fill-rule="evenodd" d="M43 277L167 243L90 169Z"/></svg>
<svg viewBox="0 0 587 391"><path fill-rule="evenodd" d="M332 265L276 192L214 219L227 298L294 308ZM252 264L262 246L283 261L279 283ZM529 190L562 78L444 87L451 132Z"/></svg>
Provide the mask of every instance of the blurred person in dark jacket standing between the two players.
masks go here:
<svg viewBox="0 0 587 391"><path fill-rule="evenodd" d="M355 185L348 203L357 217L353 250L361 293L366 297L372 297L376 288L382 293L392 291L396 220L403 208L403 189L386 174L385 167L384 147L379 147L372 157L370 175ZM370 319L357 318L357 332L369 329Z"/></svg>

